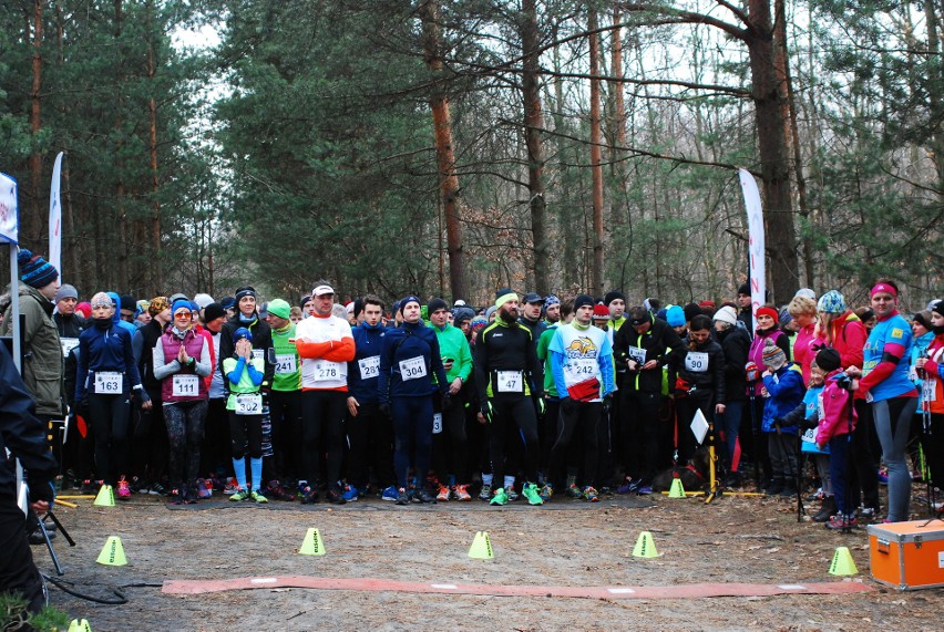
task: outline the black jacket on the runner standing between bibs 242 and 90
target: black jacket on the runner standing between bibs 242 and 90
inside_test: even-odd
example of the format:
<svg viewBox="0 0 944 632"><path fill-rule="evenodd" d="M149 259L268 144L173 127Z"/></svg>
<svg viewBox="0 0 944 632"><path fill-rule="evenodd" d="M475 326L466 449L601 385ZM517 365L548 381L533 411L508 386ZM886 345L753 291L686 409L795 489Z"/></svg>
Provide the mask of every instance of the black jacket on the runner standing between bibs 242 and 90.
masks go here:
<svg viewBox="0 0 944 632"><path fill-rule="evenodd" d="M644 393L659 393L663 388L663 370L668 364L671 352L681 348L681 339L669 323L655 317L651 318L649 331L639 335L629 322L623 323L613 336L613 360L617 369L623 369L625 377L620 381L620 388L640 391ZM642 349L646 352L645 364L650 360L659 363L659 369L651 371L628 371L626 362L632 359L630 349ZM635 352L638 356L638 352Z"/></svg>

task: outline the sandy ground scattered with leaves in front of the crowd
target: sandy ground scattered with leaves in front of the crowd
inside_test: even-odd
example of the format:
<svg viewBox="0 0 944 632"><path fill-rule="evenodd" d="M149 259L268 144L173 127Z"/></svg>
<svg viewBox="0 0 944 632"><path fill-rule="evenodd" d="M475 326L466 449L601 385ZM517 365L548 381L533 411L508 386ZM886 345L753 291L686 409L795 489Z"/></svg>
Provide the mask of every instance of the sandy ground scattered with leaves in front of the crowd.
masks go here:
<svg viewBox="0 0 944 632"><path fill-rule="evenodd" d="M103 605L51 588L51 602L92 630L941 630L944 589L900 592L871 579L865 530L830 532L797 521L796 504L767 498L607 497L545 507L483 503L397 507L361 500L343 507L222 498L171 507L135 496L113 508L80 500L57 516L76 540L60 536L63 580L85 594L123 589L129 602ZM815 507L813 507L815 510ZM812 512L812 511L811 511ZM309 528L327 555L298 555ZM944 524L942 524L944 529ZM488 530L494 559L468 557ZM634 558L643 530L660 557ZM123 567L95 562L110 536ZM828 573L846 546L860 574ZM52 573L44 549L40 569ZM840 595L627 600L481 597L258 589L198 595L161 592L165 580L259 576L376 578L417 582L562 587L657 587L704 582L783 584L858 581L873 590Z"/></svg>

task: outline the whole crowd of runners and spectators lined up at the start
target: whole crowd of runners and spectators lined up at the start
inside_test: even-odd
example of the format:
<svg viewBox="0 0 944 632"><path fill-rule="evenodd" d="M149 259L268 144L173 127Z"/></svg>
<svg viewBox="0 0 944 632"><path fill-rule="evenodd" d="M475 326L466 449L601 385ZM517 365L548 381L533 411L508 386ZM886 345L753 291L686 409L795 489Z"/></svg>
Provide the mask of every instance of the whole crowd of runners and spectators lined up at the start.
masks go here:
<svg viewBox="0 0 944 632"><path fill-rule="evenodd" d="M714 443L722 487L784 498L809 455L832 529L906 520L915 480L941 509L944 302L906 320L887 279L854 311L809 289L752 310L747 286L720 305L509 288L482 309L342 304L324 280L297 305L249 286L85 302L42 257L19 261L23 377L43 422L68 419L52 444L85 494L596 501L651 494Z"/></svg>

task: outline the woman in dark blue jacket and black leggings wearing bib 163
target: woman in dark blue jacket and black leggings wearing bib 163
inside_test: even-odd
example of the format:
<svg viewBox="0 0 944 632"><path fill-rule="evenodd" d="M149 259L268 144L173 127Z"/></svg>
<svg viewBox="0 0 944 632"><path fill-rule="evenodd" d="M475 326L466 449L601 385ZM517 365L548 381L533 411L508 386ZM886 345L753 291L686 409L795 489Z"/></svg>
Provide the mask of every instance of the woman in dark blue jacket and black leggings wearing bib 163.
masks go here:
<svg viewBox="0 0 944 632"><path fill-rule="evenodd" d="M117 497L127 499L131 393L141 397L145 410L151 407L151 400L141 387L131 333L115 323L111 297L99 292L91 303L92 327L79 336L75 401L92 421L99 476L105 485L114 485L117 479Z"/></svg>

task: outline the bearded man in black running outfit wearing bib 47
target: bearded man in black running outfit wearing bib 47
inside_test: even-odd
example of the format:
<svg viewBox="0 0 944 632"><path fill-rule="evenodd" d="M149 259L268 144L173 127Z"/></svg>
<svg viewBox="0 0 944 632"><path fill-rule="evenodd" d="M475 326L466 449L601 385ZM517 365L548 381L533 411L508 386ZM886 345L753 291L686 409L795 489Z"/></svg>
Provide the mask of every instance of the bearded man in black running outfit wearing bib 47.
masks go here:
<svg viewBox="0 0 944 632"><path fill-rule="evenodd" d="M544 384L544 374L537 362L535 341L531 331L521 324L517 294L510 290L499 292L495 300L495 321L482 330L475 343L473 366L481 410L479 423L490 424L492 480L496 487L492 505L505 505L509 489L514 488L514 476L505 476L505 441L509 429L517 427L524 439L523 494L532 505L543 501L537 490L537 418L531 400L531 384ZM509 472L514 472L507 467ZM483 481L485 483L485 481Z"/></svg>

